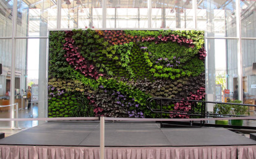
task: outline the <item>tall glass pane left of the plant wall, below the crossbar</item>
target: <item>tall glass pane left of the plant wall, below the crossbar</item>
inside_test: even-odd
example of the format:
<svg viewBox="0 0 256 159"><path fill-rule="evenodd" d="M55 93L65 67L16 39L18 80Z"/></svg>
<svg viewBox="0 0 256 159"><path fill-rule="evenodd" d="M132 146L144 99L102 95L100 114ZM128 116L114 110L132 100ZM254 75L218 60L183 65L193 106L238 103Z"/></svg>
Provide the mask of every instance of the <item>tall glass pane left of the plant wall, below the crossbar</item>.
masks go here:
<svg viewBox="0 0 256 159"><path fill-rule="evenodd" d="M37 118L38 63L40 39L17 39L15 60L15 103L19 104L19 118ZM29 93L30 92L30 93ZM38 99L38 93L36 98ZM31 128L38 121L19 121L19 128Z"/></svg>

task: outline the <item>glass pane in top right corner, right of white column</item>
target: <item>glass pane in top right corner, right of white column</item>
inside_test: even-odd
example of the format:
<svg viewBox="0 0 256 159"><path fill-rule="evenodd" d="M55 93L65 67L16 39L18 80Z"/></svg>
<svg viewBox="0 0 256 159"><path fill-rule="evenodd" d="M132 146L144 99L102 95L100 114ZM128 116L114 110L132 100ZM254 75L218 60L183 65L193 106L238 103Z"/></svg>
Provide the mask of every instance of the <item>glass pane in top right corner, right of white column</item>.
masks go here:
<svg viewBox="0 0 256 159"><path fill-rule="evenodd" d="M256 37L255 1L240 1L242 37Z"/></svg>

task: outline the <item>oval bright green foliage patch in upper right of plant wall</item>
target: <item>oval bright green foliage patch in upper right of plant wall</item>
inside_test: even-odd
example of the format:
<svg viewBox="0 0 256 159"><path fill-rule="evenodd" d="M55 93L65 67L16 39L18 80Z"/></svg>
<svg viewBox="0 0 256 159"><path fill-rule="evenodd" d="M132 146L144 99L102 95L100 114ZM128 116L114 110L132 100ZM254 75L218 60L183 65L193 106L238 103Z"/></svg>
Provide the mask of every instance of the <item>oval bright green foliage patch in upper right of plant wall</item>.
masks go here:
<svg viewBox="0 0 256 159"><path fill-rule="evenodd" d="M195 47L192 49L172 42L145 42L140 46L147 47L144 58L147 65L153 67L150 72L155 78L175 80L181 76L198 76L204 71L203 61L195 57L198 54Z"/></svg>

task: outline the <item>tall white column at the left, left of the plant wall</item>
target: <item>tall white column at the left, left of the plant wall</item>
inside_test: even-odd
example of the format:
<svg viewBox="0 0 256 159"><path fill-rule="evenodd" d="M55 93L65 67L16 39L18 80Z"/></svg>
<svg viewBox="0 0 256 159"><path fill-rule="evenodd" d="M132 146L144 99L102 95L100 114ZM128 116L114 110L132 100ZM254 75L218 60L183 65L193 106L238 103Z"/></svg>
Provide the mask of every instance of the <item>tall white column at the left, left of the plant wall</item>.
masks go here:
<svg viewBox="0 0 256 159"><path fill-rule="evenodd" d="M16 28L17 28L17 0L14 0L14 6L12 10L12 72L11 72L11 102L14 104L14 89L15 89L15 60L16 60ZM11 118L14 118L14 105L11 109ZM14 128L14 121L11 121L11 128Z"/></svg>

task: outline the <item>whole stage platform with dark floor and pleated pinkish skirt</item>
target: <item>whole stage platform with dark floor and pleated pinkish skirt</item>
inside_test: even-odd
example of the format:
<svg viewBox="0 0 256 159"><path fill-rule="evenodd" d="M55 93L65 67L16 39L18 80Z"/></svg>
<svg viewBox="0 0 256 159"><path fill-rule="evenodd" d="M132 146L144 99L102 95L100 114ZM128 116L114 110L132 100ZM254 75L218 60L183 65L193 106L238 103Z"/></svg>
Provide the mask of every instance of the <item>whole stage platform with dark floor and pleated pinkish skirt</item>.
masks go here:
<svg viewBox="0 0 256 159"><path fill-rule="evenodd" d="M0 157L98 159L99 146L98 121L56 121L0 139ZM256 141L224 128L107 121L105 158L256 158Z"/></svg>

